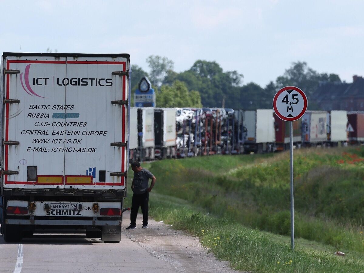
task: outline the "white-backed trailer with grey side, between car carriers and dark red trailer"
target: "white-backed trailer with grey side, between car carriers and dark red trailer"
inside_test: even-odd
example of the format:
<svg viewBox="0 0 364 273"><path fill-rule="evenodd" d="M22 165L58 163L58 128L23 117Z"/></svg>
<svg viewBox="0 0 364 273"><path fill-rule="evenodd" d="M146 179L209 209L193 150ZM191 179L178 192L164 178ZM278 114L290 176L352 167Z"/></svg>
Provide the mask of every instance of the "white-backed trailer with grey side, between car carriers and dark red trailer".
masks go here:
<svg viewBox="0 0 364 273"><path fill-rule="evenodd" d="M244 139L244 150L258 153L273 152L276 135L274 131L273 109L244 111L244 127L247 132Z"/></svg>

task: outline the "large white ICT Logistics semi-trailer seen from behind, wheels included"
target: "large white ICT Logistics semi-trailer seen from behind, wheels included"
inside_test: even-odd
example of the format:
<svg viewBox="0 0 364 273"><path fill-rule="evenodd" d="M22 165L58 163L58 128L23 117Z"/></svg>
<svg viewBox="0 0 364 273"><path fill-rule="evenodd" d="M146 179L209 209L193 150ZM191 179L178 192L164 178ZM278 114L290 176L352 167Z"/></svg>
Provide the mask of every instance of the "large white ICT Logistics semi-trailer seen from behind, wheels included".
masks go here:
<svg viewBox="0 0 364 273"><path fill-rule="evenodd" d="M4 53L1 233L78 228L119 242L128 170L128 54Z"/></svg>

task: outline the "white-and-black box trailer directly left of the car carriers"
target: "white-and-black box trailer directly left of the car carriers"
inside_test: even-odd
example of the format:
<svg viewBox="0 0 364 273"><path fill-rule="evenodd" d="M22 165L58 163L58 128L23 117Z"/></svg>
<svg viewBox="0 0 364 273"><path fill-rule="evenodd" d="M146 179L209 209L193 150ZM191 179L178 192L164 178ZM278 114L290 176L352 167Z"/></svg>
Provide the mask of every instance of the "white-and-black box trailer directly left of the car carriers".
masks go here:
<svg viewBox="0 0 364 273"><path fill-rule="evenodd" d="M177 156L175 108L154 108L154 136L155 157Z"/></svg>

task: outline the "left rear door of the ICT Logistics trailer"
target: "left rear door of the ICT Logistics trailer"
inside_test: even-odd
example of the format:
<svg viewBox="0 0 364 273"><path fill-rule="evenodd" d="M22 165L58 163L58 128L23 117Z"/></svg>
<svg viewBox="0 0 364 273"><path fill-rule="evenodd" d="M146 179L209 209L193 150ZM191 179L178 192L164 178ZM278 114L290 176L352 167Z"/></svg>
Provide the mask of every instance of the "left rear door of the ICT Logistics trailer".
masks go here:
<svg viewBox="0 0 364 273"><path fill-rule="evenodd" d="M5 187L63 187L64 152L53 153L53 107L64 104L66 58L6 56L4 104ZM63 146L64 147L64 146Z"/></svg>

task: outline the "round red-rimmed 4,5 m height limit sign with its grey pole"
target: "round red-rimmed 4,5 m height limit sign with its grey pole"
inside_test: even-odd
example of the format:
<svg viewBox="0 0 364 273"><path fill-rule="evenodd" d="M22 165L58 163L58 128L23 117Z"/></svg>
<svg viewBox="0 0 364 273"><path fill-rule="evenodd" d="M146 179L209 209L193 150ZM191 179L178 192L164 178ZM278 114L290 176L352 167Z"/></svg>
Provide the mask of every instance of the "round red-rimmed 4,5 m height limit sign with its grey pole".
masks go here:
<svg viewBox="0 0 364 273"><path fill-rule="evenodd" d="M291 191L291 246L294 249L294 209L293 209L293 129L292 122L300 119L307 110L306 94L298 87L286 86L278 90L273 98L273 109L276 115L289 121L289 153L290 153L290 191Z"/></svg>

